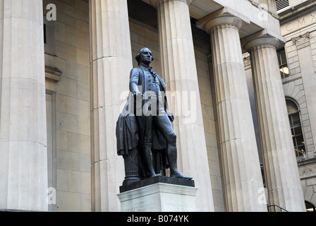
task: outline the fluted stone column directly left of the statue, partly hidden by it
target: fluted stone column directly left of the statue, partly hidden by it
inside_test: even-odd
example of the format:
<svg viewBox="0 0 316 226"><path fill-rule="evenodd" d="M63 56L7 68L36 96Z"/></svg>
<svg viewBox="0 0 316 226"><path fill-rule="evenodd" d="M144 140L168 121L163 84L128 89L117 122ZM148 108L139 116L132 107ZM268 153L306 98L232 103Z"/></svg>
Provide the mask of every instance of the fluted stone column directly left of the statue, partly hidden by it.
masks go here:
<svg viewBox="0 0 316 226"><path fill-rule="evenodd" d="M92 210L116 212L124 180L116 121L133 67L126 0L90 1L90 49Z"/></svg>

